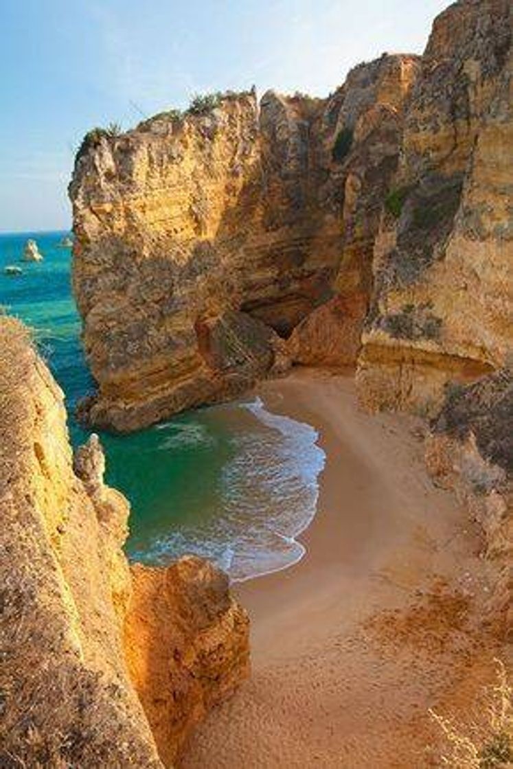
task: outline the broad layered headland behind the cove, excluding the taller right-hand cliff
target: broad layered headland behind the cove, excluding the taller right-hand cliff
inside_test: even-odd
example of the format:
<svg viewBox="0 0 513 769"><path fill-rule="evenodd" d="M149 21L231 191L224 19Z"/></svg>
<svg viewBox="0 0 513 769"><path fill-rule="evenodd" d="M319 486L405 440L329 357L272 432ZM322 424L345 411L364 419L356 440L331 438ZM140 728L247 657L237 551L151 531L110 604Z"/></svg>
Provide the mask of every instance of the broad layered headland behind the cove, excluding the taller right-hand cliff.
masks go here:
<svg viewBox="0 0 513 769"><path fill-rule="evenodd" d="M361 325L415 68L385 56L327 101L268 92L258 108L247 93L88 135L70 195L92 422L137 428L286 368L278 334L334 294L338 317ZM342 346L354 361L355 340ZM291 351L309 358L308 328Z"/></svg>

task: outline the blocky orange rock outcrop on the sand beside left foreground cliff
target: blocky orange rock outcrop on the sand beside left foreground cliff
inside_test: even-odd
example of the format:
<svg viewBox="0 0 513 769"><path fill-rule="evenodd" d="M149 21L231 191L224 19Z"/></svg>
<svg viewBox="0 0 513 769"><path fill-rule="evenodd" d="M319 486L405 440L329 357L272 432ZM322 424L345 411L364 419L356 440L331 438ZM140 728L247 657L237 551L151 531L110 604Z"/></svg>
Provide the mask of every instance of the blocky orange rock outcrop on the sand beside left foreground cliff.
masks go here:
<svg viewBox="0 0 513 769"><path fill-rule="evenodd" d="M135 689L162 759L249 674L249 622L228 578L207 561L132 568L125 648Z"/></svg>

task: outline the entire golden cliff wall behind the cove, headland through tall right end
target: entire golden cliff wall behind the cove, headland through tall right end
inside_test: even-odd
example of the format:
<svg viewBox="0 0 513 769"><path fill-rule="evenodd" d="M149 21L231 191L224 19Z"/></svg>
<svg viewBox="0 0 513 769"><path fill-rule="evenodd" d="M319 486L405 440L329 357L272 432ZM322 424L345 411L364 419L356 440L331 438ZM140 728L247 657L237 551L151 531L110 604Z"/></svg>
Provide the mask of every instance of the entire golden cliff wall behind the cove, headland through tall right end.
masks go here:
<svg viewBox="0 0 513 769"><path fill-rule="evenodd" d="M459 0L421 57L327 99L226 95L120 136L70 185L74 285L120 431L291 363L351 365L368 410L432 416L505 364L511 328L509 0Z"/></svg>

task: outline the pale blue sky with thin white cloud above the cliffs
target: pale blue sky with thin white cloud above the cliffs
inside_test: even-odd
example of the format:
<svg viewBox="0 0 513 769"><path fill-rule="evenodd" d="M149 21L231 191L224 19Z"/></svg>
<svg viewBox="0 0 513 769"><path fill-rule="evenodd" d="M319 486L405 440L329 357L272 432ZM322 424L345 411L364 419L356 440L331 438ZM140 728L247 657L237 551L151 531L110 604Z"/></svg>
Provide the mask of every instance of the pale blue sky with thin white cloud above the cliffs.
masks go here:
<svg viewBox="0 0 513 769"><path fill-rule="evenodd" d="M448 0L0 0L0 231L65 229L83 135L256 85L325 96Z"/></svg>

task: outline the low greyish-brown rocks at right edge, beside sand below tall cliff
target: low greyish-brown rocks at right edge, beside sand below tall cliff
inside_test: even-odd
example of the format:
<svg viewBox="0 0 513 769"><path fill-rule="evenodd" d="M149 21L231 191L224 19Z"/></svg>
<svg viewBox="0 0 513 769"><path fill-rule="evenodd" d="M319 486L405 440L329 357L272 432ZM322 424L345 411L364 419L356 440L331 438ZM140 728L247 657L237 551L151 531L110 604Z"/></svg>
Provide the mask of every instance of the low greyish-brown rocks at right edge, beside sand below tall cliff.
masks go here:
<svg viewBox="0 0 513 769"><path fill-rule="evenodd" d="M504 369L452 386L426 441L426 464L481 525L485 555L501 567L491 619L513 638L513 375Z"/></svg>

